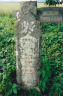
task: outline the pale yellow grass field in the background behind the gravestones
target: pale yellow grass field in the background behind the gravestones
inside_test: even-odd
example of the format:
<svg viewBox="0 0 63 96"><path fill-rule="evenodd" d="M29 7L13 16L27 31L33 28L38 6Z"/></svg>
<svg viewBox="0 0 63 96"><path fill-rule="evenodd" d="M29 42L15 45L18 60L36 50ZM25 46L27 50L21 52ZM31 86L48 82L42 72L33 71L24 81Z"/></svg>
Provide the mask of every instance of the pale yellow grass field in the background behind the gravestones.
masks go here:
<svg viewBox="0 0 63 96"><path fill-rule="evenodd" d="M56 5L57 7L63 7L63 5L58 4ZM49 7L44 5L44 3L37 3L37 8L42 8L42 7ZM55 6L51 6L55 7ZM0 14L1 13L12 13L12 10L20 10L20 3L8 3L8 4L0 4Z"/></svg>

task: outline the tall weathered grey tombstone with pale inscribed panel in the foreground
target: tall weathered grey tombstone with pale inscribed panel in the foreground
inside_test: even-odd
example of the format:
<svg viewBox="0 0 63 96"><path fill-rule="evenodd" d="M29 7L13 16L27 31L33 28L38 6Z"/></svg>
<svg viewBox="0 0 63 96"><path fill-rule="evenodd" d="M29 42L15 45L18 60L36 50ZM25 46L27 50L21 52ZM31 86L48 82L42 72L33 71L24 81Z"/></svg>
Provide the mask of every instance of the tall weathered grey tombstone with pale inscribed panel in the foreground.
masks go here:
<svg viewBox="0 0 63 96"><path fill-rule="evenodd" d="M37 1L21 2L16 12L16 75L17 84L29 90L38 86L40 79L41 28L37 17ZM38 88L38 87L37 87Z"/></svg>

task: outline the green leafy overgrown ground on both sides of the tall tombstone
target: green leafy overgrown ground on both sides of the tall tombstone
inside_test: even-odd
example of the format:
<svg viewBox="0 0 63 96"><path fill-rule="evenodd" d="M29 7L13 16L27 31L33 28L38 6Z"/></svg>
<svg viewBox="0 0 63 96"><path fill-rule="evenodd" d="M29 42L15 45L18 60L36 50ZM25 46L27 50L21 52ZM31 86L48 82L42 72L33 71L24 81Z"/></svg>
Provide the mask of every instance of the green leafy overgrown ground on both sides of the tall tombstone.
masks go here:
<svg viewBox="0 0 63 96"><path fill-rule="evenodd" d="M17 6L18 5L18 6ZM0 96L63 96L63 23L42 24L40 82L41 93L23 92L16 82L15 16L19 4L0 6Z"/></svg>

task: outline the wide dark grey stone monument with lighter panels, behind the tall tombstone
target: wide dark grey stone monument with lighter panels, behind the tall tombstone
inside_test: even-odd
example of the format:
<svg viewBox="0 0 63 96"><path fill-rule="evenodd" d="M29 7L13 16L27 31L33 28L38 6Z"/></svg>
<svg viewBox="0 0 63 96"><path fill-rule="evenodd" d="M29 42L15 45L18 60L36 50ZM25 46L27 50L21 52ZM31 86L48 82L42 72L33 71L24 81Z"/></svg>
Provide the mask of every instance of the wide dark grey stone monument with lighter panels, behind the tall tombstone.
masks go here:
<svg viewBox="0 0 63 96"><path fill-rule="evenodd" d="M56 24L63 22L62 7L43 7L37 8L37 15L41 23L54 22Z"/></svg>

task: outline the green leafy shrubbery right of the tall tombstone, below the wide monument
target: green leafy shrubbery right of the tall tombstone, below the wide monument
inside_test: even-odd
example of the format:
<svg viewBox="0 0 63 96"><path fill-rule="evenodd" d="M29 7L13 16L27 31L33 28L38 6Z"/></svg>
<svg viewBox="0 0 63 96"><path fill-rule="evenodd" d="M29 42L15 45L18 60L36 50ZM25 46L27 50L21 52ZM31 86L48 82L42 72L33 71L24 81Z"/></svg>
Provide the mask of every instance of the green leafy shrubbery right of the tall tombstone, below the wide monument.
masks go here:
<svg viewBox="0 0 63 96"><path fill-rule="evenodd" d="M51 25L44 23L41 42L40 82L43 95L62 96L63 94L63 64L62 37L63 24ZM59 29L59 30L58 30Z"/></svg>

